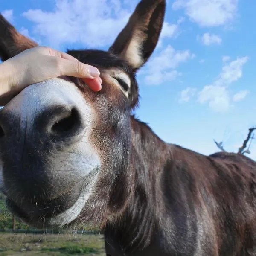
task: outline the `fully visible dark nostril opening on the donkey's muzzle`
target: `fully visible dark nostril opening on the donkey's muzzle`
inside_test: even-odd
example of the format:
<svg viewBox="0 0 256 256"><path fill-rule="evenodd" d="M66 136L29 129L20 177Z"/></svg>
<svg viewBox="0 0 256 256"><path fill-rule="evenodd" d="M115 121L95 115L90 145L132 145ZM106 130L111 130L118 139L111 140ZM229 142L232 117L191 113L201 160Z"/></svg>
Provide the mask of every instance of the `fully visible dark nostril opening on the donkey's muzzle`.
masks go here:
<svg viewBox="0 0 256 256"><path fill-rule="evenodd" d="M54 134L70 135L72 132L76 134L76 131L79 130L80 126L81 119L79 112L76 108L73 108L67 116L52 125L51 130Z"/></svg>

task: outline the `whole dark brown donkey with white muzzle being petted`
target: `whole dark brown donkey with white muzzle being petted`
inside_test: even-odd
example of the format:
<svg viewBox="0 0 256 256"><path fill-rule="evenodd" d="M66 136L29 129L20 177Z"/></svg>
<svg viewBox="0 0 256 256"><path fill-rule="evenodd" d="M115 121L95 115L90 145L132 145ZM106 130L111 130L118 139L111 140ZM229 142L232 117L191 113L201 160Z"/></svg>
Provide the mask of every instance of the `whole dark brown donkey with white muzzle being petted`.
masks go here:
<svg viewBox="0 0 256 256"><path fill-rule="evenodd" d="M165 9L142 0L108 51L68 51L99 68L100 92L63 76L0 111L6 204L38 228L98 225L108 256L255 256L256 162L165 143L131 115ZM35 46L0 16L3 61Z"/></svg>

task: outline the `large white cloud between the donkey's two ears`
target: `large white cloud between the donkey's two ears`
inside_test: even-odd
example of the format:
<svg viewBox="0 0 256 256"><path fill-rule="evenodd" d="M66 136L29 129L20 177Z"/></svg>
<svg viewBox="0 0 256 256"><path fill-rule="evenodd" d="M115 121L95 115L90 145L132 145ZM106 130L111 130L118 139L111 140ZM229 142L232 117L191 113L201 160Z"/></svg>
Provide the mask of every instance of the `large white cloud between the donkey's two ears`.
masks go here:
<svg viewBox="0 0 256 256"><path fill-rule="evenodd" d="M55 0L53 12L30 9L23 16L34 23L33 32L52 47L72 43L104 47L113 43L134 7L125 8L119 0L111 4L102 0Z"/></svg>

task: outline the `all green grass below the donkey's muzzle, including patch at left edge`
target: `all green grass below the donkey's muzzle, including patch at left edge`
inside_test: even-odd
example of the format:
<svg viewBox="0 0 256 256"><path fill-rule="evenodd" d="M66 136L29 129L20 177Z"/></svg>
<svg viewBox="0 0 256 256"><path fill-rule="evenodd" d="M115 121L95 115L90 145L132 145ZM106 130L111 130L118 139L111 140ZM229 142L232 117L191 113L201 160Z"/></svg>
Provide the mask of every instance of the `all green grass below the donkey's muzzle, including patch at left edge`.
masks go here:
<svg viewBox="0 0 256 256"><path fill-rule="evenodd" d="M6 207L5 196L2 193L0 193L0 229L12 229L12 214ZM57 234L40 234L37 233L37 229L23 224L17 218L16 229L25 229L29 232L0 232L0 256L106 255L102 235L74 234L69 231L63 233L64 230L57 230ZM98 229L81 225L80 230L97 231Z"/></svg>

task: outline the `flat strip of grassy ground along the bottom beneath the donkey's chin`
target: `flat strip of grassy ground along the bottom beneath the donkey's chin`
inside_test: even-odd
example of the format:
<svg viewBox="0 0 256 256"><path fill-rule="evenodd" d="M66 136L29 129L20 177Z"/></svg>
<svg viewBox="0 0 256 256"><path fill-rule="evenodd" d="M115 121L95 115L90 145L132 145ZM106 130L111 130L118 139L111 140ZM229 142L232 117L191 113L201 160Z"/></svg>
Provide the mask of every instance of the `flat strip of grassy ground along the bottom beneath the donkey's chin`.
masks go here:
<svg viewBox="0 0 256 256"><path fill-rule="evenodd" d="M0 233L0 256L105 256L102 235Z"/></svg>

